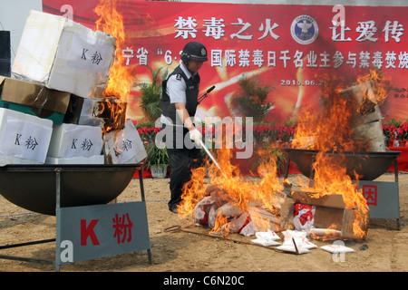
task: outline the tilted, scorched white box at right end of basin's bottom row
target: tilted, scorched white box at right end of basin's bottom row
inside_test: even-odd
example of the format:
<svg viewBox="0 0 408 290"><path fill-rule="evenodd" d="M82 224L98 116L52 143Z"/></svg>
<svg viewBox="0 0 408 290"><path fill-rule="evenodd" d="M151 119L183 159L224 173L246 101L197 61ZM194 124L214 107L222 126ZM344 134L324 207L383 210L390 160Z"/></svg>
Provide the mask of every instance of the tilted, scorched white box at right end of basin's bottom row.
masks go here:
<svg viewBox="0 0 408 290"><path fill-rule="evenodd" d="M108 164L138 163L147 157L141 136L131 120L121 131L104 135L104 152Z"/></svg>

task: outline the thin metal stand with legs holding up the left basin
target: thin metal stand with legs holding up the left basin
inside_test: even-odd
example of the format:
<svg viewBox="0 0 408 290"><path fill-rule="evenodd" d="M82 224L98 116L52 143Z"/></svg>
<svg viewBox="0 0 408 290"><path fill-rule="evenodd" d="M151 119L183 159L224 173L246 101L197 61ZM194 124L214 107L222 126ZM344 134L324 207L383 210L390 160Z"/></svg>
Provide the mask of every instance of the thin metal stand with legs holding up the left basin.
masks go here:
<svg viewBox="0 0 408 290"><path fill-rule="evenodd" d="M143 187L143 177L142 177L143 167L142 167L141 164L137 164L137 165L135 165L135 168L139 172L139 183L140 183L140 187L141 187L141 201L145 202L144 187ZM43 170L41 167L39 167L38 169ZM19 170L19 169L15 168L13 170ZM21 170L23 170L23 169L21 169ZM44 170L46 170L46 169L44 169ZM74 170L74 168L73 167L66 167L66 168L65 167L56 167L54 169L55 180L56 180L56 186L55 186L55 195L56 195L55 207L56 207L56 209L60 208L60 205L61 205L61 174L62 174L63 171L66 171L66 170ZM55 210L55 215L58 215L58 212L59 212L59 210ZM56 227L58 227L58 217L56 217ZM33 245L50 243L50 242L55 242L55 241L56 241L56 238L48 238L48 239L30 241L30 242L25 242L25 243L17 243L17 244L12 244L12 245L0 246L0 250L7 249L7 248L14 248L14 247L33 246ZM32 258L32 257L25 257L25 256L9 256L9 255L1 255L1 254L0 254L0 258L9 259L9 260L16 260L16 261L34 262L34 263L54 265L55 270L59 271L60 270L60 265L56 262L56 260L57 260L56 253L57 253L57 251L55 252L55 259L54 260L46 260L46 259L39 259L39 258ZM149 258L149 264L151 265L152 264L152 262L151 262L151 248L147 249L147 253L148 253L148 258Z"/></svg>

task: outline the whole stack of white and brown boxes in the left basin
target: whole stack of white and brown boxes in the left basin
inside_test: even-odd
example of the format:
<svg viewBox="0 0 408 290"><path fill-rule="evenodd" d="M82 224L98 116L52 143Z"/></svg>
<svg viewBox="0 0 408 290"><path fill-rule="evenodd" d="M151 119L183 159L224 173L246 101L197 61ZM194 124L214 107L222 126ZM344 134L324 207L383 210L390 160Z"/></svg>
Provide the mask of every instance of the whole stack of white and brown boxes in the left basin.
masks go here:
<svg viewBox="0 0 408 290"><path fill-rule="evenodd" d="M103 100L115 50L115 38L108 34L62 16L30 11L12 78L0 76L0 164L144 159L141 138L130 121L131 133L118 134L121 140L115 145L133 142L126 150L132 149L135 158L107 161L103 120L92 114Z"/></svg>

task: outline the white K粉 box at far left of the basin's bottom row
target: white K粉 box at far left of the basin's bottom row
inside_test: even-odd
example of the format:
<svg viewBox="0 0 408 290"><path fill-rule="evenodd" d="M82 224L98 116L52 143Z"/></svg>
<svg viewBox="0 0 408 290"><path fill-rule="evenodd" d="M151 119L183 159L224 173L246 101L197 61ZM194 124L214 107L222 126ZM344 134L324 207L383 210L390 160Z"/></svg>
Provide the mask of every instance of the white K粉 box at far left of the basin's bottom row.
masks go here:
<svg viewBox="0 0 408 290"><path fill-rule="evenodd" d="M51 120L0 108L0 154L3 156L44 163L52 131Z"/></svg>

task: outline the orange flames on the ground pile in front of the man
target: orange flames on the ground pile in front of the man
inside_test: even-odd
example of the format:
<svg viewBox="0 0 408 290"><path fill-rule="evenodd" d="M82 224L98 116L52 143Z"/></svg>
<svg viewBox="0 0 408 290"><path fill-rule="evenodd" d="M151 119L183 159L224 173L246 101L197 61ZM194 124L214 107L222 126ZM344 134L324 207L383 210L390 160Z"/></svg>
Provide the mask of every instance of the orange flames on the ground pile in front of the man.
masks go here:
<svg viewBox="0 0 408 290"><path fill-rule="evenodd" d="M259 182L258 180L248 181L240 177L239 169L230 163L232 150L217 150L216 159L225 176L219 173L219 169L214 164L208 165L211 182L204 186L206 168L192 170L191 179L183 188L183 201L179 208L180 218L185 218L189 214L194 215L194 208L202 198L208 195L208 189L211 187L218 189L219 206L228 203L231 207L239 208L240 214L250 214L251 221L259 230L271 228L271 223L274 221L263 217L259 210L262 208L278 216L277 208L284 200L281 192L284 188L277 178L275 157L267 155L267 151L260 152L260 155L262 162L258 167L258 172L261 180ZM215 226L212 227L209 234L220 233L226 236L229 228L235 226L231 221L231 218L234 217L226 217L224 214L219 208Z"/></svg>

